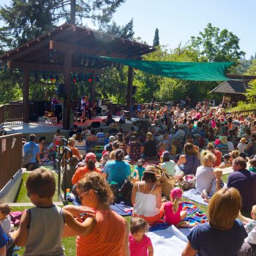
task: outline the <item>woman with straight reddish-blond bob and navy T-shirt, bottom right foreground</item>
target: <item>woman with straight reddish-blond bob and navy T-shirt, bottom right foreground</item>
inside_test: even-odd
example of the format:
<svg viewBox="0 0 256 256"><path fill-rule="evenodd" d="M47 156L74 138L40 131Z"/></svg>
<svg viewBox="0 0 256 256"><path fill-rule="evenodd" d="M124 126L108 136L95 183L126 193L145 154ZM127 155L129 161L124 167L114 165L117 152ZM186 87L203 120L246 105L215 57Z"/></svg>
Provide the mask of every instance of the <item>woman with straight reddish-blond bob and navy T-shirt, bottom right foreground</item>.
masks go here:
<svg viewBox="0 0 256 256"><path fill-rule="evenodd" d="M247 236L243 223L237 219L241 206L237 189L225 187L216 192L208 206L209 222L192 229L182 256L238 255Z"/></svg>

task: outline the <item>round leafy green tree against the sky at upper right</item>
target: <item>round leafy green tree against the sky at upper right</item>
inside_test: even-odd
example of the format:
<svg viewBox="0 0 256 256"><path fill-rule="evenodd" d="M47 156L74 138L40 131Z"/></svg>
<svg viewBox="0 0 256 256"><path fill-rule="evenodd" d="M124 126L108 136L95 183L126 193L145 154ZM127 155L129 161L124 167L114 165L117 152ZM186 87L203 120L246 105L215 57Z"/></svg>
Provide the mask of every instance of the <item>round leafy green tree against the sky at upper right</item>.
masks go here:
<svg viewBox="0 0 256 256"><path fill-rule="evenodd" d="M244 56L240 39L227 29L220 30L208 23L199 36L191 37L190 46L197 50L200 61L235 61Z"/></svg>

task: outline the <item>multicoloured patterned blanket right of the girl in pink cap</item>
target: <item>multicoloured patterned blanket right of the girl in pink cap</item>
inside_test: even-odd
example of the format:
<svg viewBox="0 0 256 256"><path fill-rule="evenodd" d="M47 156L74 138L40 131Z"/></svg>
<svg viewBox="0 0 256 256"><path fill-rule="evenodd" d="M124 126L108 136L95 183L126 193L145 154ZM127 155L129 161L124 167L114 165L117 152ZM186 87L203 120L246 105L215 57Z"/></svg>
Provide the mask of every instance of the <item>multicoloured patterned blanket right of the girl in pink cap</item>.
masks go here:
<svg viewBox="0 0 256 256"><path fill-rule="evenodd" d="M182 208L187 211L187 217L184 221L189 222L189 227L208 222L208 218L203 211L200 211L194 203L182 202Z"/></svg>

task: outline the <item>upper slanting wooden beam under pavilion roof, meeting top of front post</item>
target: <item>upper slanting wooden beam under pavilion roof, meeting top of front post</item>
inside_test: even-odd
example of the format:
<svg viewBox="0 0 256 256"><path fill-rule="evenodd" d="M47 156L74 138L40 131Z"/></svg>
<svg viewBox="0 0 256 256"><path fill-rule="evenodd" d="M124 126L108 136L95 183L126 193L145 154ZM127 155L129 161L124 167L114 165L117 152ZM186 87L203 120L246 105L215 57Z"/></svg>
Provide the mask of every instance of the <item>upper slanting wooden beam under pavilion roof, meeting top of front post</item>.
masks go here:
<svg viewBox="0 0 256 256"><path fill-rule="evenodd" d="M61 50L69 53L83 53L92 56L110 56L113 58L127 58L127 54L111 52L109 50L99 50L80 45L67 44L65 42L56 42L50 40L50 50Z"/></svg>

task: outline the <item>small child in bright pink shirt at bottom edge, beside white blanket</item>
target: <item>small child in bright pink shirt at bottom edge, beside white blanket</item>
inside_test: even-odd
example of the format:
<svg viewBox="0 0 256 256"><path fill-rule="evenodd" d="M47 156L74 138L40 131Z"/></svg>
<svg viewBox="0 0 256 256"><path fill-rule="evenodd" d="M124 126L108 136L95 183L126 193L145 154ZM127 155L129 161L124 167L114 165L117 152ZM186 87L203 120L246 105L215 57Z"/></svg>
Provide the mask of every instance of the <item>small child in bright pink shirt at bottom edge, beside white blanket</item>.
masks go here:
<svg viewBox="0 0 256 256"><path fill-rule="evenodd" d="M148 223L144 219L132 217L129 222L129 252L130 256L153 256L154 249L151 239L145 235Z"/></svg>

